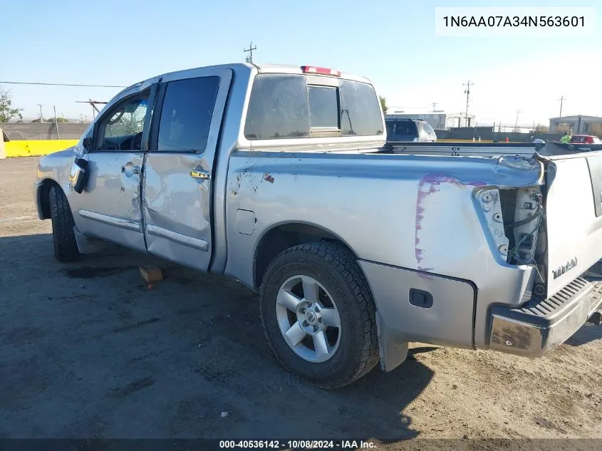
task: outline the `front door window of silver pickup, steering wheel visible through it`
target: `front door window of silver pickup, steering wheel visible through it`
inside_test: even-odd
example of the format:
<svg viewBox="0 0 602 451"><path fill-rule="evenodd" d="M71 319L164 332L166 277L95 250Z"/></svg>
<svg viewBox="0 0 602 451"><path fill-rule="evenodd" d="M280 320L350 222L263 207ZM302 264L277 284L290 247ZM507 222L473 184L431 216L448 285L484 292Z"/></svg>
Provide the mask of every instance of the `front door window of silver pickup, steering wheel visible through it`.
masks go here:
<svg viewBox="0 0 602 451"><path fill-rule="evenodd" d="M100 119L97 150L140 150L149 95L126 98Z"/></svg>

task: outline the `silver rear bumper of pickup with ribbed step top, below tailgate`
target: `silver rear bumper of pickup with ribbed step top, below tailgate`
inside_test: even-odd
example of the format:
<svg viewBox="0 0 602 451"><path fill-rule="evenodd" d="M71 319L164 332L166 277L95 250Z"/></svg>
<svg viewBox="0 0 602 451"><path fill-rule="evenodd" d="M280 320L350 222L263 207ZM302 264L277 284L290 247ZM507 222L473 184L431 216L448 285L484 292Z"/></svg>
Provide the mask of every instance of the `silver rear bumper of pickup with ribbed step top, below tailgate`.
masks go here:
<svg viewBox="0 0 602 451"><path fill-rule="evenodd" d="M602 282L575 279L549 299L491 311L489 346L529 358L543 356L571 337L602 304Z"/></svg>

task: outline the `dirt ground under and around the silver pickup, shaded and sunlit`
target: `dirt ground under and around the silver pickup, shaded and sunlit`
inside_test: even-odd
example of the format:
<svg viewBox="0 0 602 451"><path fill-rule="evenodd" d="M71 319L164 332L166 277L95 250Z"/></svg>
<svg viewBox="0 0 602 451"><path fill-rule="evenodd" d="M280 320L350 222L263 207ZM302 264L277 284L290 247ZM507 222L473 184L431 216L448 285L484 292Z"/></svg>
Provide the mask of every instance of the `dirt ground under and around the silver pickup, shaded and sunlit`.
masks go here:
<svg viewBox="0 0 602 451"><path fill-rule="evenodd" d="M118 247L58 264L36 163L0 160L0 437L602 438L602 327L534 361L415 344L319 390L281 369L235 281ZM140 264L165 280L147 289Z"/></svg>

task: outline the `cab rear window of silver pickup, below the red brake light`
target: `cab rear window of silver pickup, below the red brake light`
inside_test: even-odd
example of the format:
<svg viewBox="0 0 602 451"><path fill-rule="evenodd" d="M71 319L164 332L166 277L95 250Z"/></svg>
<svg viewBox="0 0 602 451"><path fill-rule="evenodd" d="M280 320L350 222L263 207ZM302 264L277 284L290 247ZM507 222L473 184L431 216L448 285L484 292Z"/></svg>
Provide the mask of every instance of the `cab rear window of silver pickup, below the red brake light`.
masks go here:
<svg viewBox="0 0 602 451"><path fill-rule="evenodd" d="M244 135L249 140L383 134L374 88L338 80L338 86L313 85L303 75L261 74L251 88Z"/></svg>

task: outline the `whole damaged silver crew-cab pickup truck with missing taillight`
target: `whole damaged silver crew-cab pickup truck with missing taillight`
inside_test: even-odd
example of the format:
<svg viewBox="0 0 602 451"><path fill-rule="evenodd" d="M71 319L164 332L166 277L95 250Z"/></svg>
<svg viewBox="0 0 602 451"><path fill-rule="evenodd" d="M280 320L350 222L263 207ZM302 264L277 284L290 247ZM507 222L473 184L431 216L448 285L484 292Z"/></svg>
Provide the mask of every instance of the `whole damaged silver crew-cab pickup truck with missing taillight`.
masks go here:
<svg viewBox="0 0 602 451"><path fill-rule="evenodd" d="M534 358L598 314L602 152L385 138L365 78L167 73L42 157L34 197L58 261L107 240L259 291L275 355L323 388L392 370L410 341Z"/></svg>

